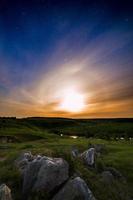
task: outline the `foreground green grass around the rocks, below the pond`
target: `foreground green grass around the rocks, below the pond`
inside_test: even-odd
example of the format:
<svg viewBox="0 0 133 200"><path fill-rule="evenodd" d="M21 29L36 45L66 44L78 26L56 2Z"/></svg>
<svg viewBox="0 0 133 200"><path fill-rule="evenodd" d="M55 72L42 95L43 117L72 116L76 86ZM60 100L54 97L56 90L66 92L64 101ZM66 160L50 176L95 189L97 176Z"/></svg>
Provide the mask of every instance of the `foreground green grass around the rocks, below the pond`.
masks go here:
<svg viewBox="0 0 133 200"><path fill-rule="evenodd" d="M46 134L47 135L47 134ZM97 169L88 169L79 159L71 157L72 147L77 147L80 152L86 150L90 144L105 144L106 151L97 158ZM0 182L5 182L12 189L13 198L21 198L21 177L14 167L14 160L21 152L31 151L33 154L63 157L69 162L70 175L80 175L85 179L89 188L98 200L128 200L133 198L133 143L127 141L106 141L101 139L69 137L45 137L34 141L21 143L8 143L0 145ZM114 180L105 184L100 175L104 166L113 166L126 178L127 183Z"/></svg>

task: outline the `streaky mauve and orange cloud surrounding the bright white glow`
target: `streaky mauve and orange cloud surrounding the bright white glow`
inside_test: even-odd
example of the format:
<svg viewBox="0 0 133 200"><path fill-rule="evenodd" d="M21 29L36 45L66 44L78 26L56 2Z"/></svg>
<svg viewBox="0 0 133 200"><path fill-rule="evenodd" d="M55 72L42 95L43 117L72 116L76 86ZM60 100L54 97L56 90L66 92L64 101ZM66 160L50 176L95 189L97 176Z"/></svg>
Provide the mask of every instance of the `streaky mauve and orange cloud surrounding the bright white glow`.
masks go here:
<svg viewBox="0 0 133 200"><path fill-rule="evenodd" d="M0 83L9 90L6 97L1 95L0 114L132 116L132 63L123 54L132 33L113 28L89 41L87 37L91 35L91 29L89 31L85 36L87 43L83 43L82 32L79 30L78 33L77 29L76 37L75 31L72 31L65 38L57 40L50 54L28 70L18 69L13 74L13 63L11 66L9 63L2 65ZM23 81L20 84L21 73ZM18 81L14 82L13 77ZM82 113L74 114L57 109L63 91L71 87L76 87L86 97L86 110Z"/></svg>

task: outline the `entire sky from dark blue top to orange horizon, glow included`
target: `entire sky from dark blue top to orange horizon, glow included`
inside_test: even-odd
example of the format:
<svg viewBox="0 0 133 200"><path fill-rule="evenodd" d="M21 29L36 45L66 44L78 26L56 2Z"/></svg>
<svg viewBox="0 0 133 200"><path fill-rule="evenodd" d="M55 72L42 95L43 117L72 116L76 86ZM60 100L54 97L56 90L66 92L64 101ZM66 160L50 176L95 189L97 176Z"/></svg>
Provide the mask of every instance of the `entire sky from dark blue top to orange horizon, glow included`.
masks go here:
<svg viewBox="0 0 133 200"><path fill-rule="evenodd" d="M0 116L133 117L133 1L0 0Z"/></svg>

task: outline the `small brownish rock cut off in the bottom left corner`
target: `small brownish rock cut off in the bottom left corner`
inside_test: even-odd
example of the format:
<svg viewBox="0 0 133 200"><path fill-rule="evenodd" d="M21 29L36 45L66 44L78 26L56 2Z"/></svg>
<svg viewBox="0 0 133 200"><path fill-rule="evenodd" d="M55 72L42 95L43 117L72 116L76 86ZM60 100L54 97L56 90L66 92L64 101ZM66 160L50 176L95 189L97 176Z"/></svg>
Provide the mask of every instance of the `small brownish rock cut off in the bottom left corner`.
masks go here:
<svg viewBox="0 0 133 200"><path fill-rule="evenodd" d="M11 190L6 184L0 186L0 200L12 200Z"/></svg>

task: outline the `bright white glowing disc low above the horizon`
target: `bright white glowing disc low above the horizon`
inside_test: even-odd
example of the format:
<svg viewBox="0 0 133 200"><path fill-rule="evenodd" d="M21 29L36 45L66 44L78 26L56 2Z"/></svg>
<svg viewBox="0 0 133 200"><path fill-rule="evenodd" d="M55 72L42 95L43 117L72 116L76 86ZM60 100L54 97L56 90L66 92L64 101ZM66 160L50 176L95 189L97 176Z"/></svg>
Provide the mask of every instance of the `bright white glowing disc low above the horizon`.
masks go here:
<svg viewBox="0 0 133 200"><path fill-rule="evenodd" d="M67 112L81 112L85 107L84 95L74 88L66 89L59 108Z"/></svg>

